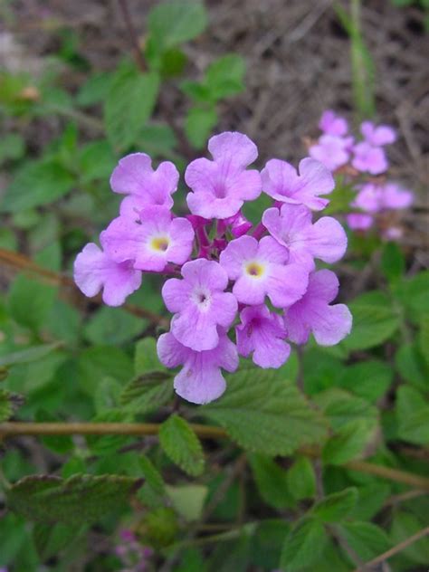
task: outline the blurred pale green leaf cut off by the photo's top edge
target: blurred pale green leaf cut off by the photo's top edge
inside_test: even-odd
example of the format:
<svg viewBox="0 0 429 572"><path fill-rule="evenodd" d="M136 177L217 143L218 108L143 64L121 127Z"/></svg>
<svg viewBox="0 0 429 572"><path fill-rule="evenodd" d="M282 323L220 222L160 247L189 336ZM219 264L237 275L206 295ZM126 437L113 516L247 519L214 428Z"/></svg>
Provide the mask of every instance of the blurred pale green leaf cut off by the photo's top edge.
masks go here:
<svg viewBox="0 0 429 572"><path fill-rule="evenodd" d="M148 30L157 52L164 52L204 32L205 7L200 2L161 2L148 14Z"/></svg>

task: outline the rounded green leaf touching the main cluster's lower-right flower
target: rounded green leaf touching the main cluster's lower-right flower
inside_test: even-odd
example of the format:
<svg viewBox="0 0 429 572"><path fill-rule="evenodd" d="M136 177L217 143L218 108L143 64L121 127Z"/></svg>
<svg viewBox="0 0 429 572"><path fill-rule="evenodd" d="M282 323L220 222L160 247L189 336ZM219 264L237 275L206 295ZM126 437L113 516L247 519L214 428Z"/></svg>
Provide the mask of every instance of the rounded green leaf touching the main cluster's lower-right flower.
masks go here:
<svg viewBox="0 0 429 572"><path fill-rule="evenodd" d="M378 346L391 338L399 327L399 319L391 301L381 291L361 294L349 304L353 329L342 344L348 350Z"/></svg>

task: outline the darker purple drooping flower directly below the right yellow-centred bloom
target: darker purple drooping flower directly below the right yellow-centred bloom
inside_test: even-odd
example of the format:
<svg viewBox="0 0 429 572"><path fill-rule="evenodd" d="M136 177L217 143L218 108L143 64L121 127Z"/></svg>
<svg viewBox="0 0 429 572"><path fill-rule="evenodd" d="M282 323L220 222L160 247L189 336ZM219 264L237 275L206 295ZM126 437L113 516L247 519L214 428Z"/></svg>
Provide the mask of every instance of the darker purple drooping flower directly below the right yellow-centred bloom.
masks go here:
<svg viewBox="0 0 429 572"><path fill-rule="evenodd" d="M247 358L253 352L253 362L263 368L281 367L291 353L281 317L262 304L244 308L240 319L235 328L239 354Z"/></svg>

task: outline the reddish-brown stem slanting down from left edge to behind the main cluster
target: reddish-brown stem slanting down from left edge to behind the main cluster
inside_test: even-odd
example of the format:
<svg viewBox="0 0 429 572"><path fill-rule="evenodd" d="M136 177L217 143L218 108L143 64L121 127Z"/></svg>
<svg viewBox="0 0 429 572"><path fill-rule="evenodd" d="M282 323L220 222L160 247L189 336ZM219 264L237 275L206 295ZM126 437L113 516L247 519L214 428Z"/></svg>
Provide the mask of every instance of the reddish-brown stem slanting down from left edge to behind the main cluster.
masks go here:
<svg viewBox="0 0 429 572"><path fill-rule="evenodd" d="M72 281L69 276L43 268L24 254L14 253L12 251L7 251L4 248L0 248L0 264L5 264L6 266L13 268L15 271L22 271L27 274L31 274L37 280L44 281L54 286L60 286L63 289L63 297L73 304L76 304L77 301L82 299L81 291L76 288L74 281ZM96 304L103 303L100 295L92 298L91 302ZM158 316L150 310L140 308L134 304L124 304L121 308L123 308L123 310L127 310L134 316L138 316L138 318L148 319L152 324L163 326L165 328L168 327L167 319L162 316Z"/></svg>

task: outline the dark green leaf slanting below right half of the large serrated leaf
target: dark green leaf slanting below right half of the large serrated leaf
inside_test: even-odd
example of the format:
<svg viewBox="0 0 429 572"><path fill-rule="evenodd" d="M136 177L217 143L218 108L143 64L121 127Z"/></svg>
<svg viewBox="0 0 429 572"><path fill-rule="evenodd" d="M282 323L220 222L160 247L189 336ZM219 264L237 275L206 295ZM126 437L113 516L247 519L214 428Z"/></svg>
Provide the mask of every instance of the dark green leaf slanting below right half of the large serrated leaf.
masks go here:
<svg viewBox="0 0 429 572"><path fill-rule="evenodd" d="M247 457L263 501L279 510L293 506L295 501L288 488L287 472L266 455L252 453Z"/></svg>

